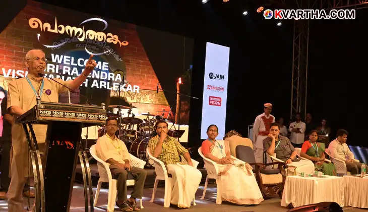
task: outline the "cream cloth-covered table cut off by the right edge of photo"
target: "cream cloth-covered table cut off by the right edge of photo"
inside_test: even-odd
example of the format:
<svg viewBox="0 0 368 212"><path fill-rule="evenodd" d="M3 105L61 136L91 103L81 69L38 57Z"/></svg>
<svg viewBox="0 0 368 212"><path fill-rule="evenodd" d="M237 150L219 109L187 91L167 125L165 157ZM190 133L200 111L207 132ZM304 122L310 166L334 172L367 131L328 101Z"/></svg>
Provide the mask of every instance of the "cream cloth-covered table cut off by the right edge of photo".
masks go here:
<svg viewBox="0 0 368 212"><path fill-rule="evenodd" d="M368 176L344 176L345 205L368 208Z"/></svg>

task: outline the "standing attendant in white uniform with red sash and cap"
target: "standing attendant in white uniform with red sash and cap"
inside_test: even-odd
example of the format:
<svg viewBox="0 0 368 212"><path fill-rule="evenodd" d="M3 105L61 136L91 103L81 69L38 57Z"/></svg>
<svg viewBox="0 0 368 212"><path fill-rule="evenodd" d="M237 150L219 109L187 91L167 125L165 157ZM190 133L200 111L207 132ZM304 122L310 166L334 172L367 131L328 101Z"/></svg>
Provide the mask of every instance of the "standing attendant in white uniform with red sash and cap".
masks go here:
<svg viewBox="0 0 368 212"><path fill-rule="evenodd" d="M265 103L264 113L257 116L253 125L253 147L256 163L263 163L263 140L270 133L270 125L275 122L275 117L271 115L272 104Z"/></svg>

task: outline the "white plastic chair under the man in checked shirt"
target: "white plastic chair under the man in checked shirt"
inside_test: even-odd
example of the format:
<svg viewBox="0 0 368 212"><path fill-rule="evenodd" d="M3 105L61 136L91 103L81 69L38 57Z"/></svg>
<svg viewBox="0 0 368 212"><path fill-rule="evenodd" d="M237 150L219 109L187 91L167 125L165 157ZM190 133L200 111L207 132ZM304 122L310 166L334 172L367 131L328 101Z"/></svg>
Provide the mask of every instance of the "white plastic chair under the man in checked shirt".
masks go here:
<svg viewBox="0 0 368 212"><path fill-rule="evenodd" d="M155 172L156 172L156 179L155 179L155 184L153 186L152 197L151 197L150 202L153 202L153 199L155 198L158 181L164 180L165 181L165 194L164 194L163 206L170 207L171 189L173 186L173 179L172 177L168 177L165 164L151 154L149 147L147 148L146 152L148 153L149 158L153 160L154 165L155 165L154 166ZM184 157L181 157L181 162L183 163L186 162ZM192 163L193 163L193 167L197 168L199 162L192 159ZM193 205L197 205L195 197L193 197Z"/></svg>

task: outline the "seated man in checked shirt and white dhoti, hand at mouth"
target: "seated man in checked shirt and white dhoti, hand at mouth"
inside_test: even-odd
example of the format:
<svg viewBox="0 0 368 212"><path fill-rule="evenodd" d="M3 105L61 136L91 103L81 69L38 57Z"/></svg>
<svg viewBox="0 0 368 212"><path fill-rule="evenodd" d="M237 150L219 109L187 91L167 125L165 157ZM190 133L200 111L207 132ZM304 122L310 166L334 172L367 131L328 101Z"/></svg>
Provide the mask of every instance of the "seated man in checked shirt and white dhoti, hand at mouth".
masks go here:
<svg viewBox="0 0 368 212"><path fill-rule="evenodd" d="M150 139L148 146L153 156L162 161L167 172L172 175L174 185L170 203L181 208L189 208L201 182L202 174L193 167L188 150L175 138L167 135L167 126L168 124L162 120L155 124L157 135ZM180 163L179 154L187 160L187 165Z"/></svg>

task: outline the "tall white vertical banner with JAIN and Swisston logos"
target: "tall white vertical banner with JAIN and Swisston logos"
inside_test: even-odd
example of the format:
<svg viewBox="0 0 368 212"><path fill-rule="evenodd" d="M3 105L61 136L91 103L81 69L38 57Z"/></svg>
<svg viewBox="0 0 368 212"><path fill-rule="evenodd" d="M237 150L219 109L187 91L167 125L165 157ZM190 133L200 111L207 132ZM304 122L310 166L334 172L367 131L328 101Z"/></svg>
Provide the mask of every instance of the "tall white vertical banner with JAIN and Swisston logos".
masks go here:
<svg viewBox="0 0 368 212"><path fill-rule="evenodd" d="M218 127L218 139L222 140L225 135L229 54L229 47L206 44L201 139L207 138L206 131L211 124Z"/></svg>

